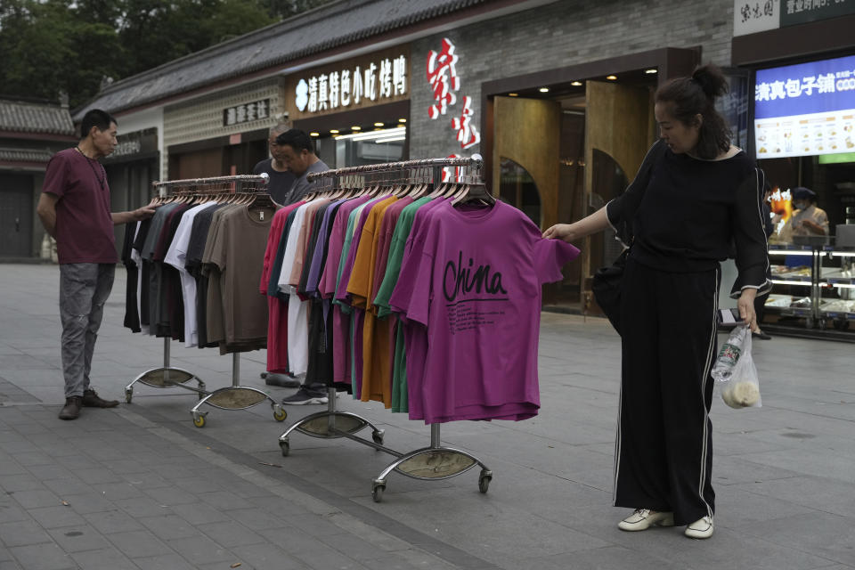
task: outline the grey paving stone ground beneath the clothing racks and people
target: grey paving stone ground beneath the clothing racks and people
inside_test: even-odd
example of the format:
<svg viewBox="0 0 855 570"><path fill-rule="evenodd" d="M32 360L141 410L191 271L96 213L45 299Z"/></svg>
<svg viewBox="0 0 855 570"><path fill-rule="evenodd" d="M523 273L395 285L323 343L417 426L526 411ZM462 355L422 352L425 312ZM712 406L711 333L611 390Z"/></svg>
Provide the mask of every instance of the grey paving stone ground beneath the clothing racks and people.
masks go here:
<svg viewBox="0 0 855 570"><path fill-rule="evenodd" d="M855 359L852 345L757 342L763 407L712 407L716 533L622 533L611 505L619 338L606 322L542 314L541 414L523 422L457 422L444 444L493 470L423 482L393 474L383 501L371 481L391 458L347 440L278 437L261 404L206 408L195 428L189 391L124 387L163 362L163 342L121 326L119 269L93 383L123 403L56 418L61 403L53 265L0 265L0 570L84 568L718 569L855 568ZM232 358L172 343L173 365L208 389L232 381ZM265 352L240 356L241 385L265 387ZM389 447L428 445L429 428L378 403L338 399L386 430ZM240 565L240 566L236 566Z"/></svg>

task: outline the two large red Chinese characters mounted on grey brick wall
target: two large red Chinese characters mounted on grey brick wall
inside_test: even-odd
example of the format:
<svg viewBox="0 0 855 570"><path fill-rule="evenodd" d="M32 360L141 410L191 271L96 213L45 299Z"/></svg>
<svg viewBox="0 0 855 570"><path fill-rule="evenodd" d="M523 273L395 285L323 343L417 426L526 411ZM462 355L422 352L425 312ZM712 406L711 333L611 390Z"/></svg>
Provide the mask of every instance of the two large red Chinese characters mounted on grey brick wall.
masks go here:
<svg viewBox="0 0 855 570"><path fill-rule="evenodd" d="M430 50L428 53L428 84L433 91L433 98L436 102L428 108L428 117L432 119L445 115L449 108L457 103L456 92L460 91L457 62L460 58L454 51L455 47L452 40L444 37L440 51ZM460 115L452 118L452 129L457 134L457 141L460 142L461 149L468 149L481 142L481 134L472 124L474 114L472 98L464 96Z"/></svg>

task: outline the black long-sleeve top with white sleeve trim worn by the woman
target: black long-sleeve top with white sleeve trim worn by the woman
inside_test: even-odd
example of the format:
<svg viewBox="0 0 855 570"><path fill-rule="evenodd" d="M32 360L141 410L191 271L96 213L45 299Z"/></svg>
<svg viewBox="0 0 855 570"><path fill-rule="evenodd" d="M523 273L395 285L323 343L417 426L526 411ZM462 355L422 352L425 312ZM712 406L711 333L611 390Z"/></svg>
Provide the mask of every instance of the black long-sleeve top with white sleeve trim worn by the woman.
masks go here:
<svg viewBox="0 0 855 570"><path fill-rule="evenodd" d="M735 245L738 275L731 297L737 297L742 289L763 292L770 285L762 190L762 171L744 151L723 160L694 159L659 140L606 211L615 228L630 224L630 256L660 271L714 269Z"/></svg>

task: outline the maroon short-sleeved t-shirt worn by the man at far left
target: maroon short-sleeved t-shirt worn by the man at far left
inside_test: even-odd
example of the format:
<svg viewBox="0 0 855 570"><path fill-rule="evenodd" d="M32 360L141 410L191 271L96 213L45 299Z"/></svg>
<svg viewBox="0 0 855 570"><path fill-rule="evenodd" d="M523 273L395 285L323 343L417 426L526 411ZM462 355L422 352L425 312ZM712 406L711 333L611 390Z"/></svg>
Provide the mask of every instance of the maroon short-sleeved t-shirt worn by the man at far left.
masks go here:
<svg viewBox="0 0 855 570"><path fill-rule="evenodd" d="M118 263L110 186L100 162L77 149L59 151L47 163L42 191L59 198L55 234L61 264Z"/></svg>

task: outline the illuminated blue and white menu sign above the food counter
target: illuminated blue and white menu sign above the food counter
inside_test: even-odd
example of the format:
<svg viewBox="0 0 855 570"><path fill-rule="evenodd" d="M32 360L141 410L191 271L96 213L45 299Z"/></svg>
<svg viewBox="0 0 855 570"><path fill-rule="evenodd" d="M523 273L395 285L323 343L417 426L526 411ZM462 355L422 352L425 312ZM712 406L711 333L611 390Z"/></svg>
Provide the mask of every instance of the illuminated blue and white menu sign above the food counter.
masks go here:
<svg viewBox="0 0 855 570"><path fill-rule="evenodd" d="M758 159L851 152L853 127L855 56L757 70Z"/></svg>

